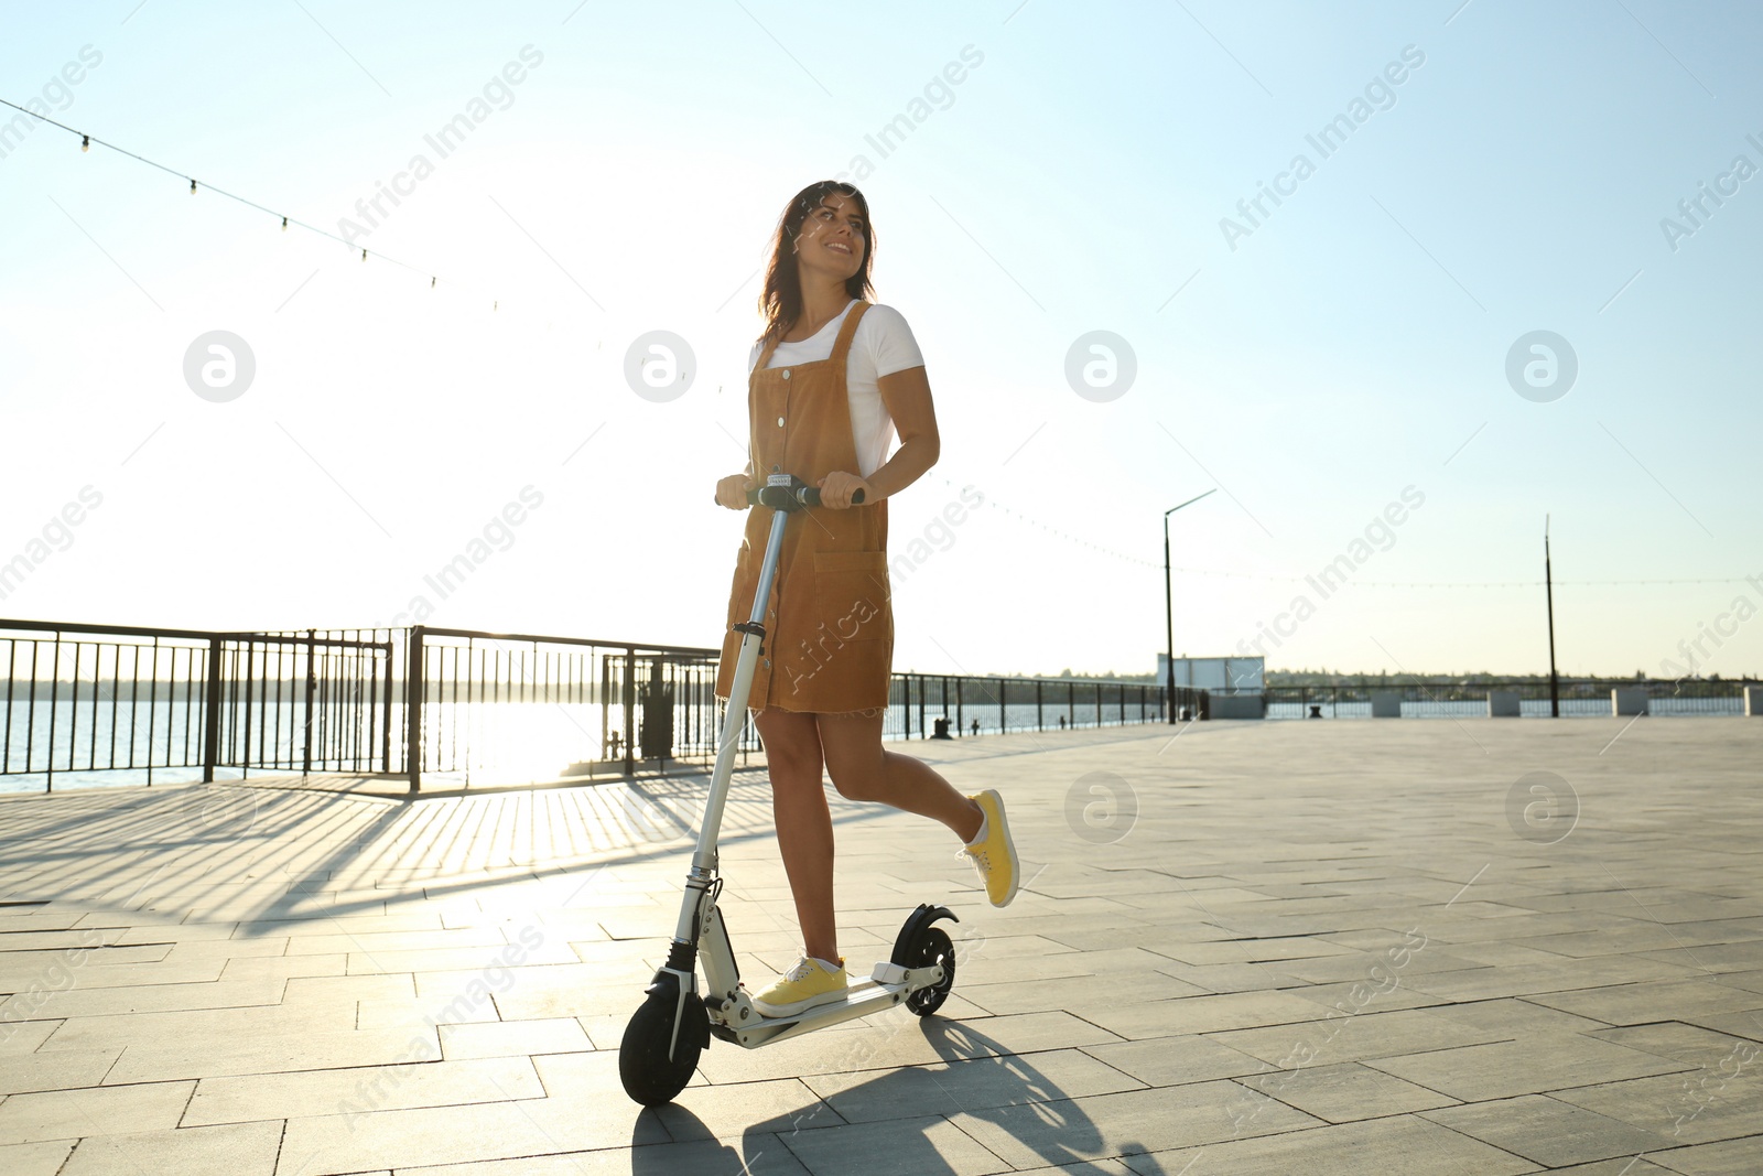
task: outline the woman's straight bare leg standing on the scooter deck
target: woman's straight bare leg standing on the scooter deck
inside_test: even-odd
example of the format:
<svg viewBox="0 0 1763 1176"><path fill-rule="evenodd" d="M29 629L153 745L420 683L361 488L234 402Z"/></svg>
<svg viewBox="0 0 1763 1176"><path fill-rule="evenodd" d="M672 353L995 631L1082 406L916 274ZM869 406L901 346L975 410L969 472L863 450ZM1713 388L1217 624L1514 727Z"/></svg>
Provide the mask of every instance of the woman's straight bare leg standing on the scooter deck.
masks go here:
<svg viewBox="0 0 1763 1176"><path fill-rule="evenodd" d="M772 822L777 852L795 896L802 947L825 961L839 957L832 915L832 813L822 786L820 732L813 714L765 709L753 716L765 741L772 781Z"/></svg>

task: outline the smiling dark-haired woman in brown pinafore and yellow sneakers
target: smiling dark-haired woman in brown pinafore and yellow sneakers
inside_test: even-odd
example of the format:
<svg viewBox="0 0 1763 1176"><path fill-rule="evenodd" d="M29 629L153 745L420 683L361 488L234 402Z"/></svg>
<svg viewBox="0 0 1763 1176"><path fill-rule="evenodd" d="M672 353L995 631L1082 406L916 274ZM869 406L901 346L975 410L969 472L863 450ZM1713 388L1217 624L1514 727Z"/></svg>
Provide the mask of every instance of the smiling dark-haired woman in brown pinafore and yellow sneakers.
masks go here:
<svg viewBox="0 0 1763 1176"><path fill-rule="evenodd" d="M1017 862L996 790L956 792L926 763L882 748L894 617L887 582L887 499L938 457L924 358L897 310L864 301L874 234L848 183L802 189L777 222L748 377L748 471L716 501L746 510L755 476L795 474L822 506L793 518L765 605L765 649L748 705L772 779L772 816L802 927L802 959L758 993L767 1017L843 996L848 980L832 913L832 816L822 769L850 800L876 800L947 825L994 906L1015 897ZM899 448L887 457L889 441ZM862 490L862 504L852 499ZM728 621L753 612L769 511L748 517ZM740 635L723 644L716 693L728 696Z"/></svg>

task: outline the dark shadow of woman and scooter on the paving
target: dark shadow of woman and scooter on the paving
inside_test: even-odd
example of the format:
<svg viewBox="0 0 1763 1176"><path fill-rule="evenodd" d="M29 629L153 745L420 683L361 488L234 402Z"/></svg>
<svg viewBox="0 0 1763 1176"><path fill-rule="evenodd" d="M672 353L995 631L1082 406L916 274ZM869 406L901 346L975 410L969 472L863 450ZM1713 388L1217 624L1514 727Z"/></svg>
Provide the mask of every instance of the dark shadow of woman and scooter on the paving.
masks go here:
<svg viewBox="0 0 1763 1176"><path fill-rule="evenodd" d="M689 1111L693 1088L688 1088L681 1102L638 1116L633 1176L882 1169L954 1176L971 1171L975 1160L987 1160L987 1146L1015 1167L1058 1165L1072 1176L1102 1171L1086 1160L1118 1155L1135 1155L1134 1167L1144 1176L1162 1172L1142 1144L1104 1139L1072 1095L1028 1058L1012 1054L971 1024L936 1016L904 1023L890 1017L873 1031L919 1031L943 1065L904 1065L855 1086L829 1090L804 1111L748 1125L739 1143L726 1135L718 1139ZM640 1139L652 1139L656 1123L675 1143L636 1146ZM908 1123L913 1128L904 1128ZM1030 1164L1031 1158L1038 1164Z"/></svg>

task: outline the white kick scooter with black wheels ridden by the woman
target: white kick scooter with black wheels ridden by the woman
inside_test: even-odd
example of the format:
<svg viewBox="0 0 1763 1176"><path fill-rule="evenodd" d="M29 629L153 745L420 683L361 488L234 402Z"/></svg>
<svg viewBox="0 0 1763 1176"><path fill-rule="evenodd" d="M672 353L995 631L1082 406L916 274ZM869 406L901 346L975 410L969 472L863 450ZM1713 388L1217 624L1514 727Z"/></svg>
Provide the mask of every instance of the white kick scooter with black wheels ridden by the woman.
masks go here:
<svg viewBox="0 0 1763 1176"><path fill-rule="evenodd" d="M862 501L862 490L853 504ZM933 926L940 919L956 919L945 906L920 904L894 940L887 961L878 963L867 980L844 989L843 998L816 1005L790 1017L765 1017L753 1007L753 998L740 984L735 952L728 943L728 927L716 908L723 880L716 873L716 834L728 800L730 778L735 770L735 744L748 718L748 695L753 688L753 666L765 640L765 601L777 573L785 527L790 515L809 506L820 506L820 490L792 474L770 474L765 485L748 492L748 501L772 511L770 538L765 543L765 561L760 566L758 591L753 592L753 615L733 626L740 633L740 652L735 659L735 677L728 689L728 711L723 714L721 739L716 748L716 772L710 776L710 793L698 829L698 848L691 855L691 873L686 875L686 892L681 899L679 926L666 963L649 982L647 1000L631 1016L619 1044L619 1079L624 1093L647 1107L673 1100L691 1081L698 1054L710 1046L710 1037L758 1049L772 1042L823 1030L829 1024L866 1017L904 1003L920 1017L936 1012L956 986L956 950L948 933ZM959 919L956 919L959 922ZM698 989L698 964L703 964L703 993Z"/></svg>

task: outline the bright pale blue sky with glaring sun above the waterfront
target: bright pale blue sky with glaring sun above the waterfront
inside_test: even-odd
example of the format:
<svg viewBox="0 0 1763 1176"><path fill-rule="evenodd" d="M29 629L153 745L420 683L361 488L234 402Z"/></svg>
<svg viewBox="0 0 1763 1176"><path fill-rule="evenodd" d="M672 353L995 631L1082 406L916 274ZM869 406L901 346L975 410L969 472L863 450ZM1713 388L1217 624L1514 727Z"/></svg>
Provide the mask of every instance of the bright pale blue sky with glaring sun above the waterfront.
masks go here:
<svg viewBox="0 0 1763 1176"><path fill-rule="evenodd" d="M1271 666L1546 670L1543 589L1486 584L1541 578L1550 515L1564 672L1675 677L1700 636L1700 668L1763 674L1754 5L5 9L0 97L356 220L370 257L0 120L0 562L28 564L0 615L425 598L716 644L756 270L788 196L855 169L943 432L890 504L896 668L1151 670L1162 511L1218 487L1171 518L1178 652L1268 626ZM654 330L695 354L670 402L624 379ZM236 398L185 379L208 331L250 349ZM1120 346L1084 383L1090 331L1130 347L1123 391ZM1514 386L1532 331L1571 358L1527 342ZM938 524L963 487L986 506ZM1354 587L1305 580L1331 562Z"/></svg>

